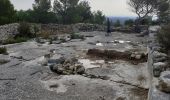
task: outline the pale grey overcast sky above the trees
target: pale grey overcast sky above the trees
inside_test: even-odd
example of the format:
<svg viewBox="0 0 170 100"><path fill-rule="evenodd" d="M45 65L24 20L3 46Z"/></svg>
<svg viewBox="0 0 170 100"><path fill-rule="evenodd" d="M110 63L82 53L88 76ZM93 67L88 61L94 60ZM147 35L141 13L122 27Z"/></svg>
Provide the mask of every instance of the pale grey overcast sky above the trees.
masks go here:
<svg viewBox="0 0 170 100"><path fill-rule="evenodd" d="M127 5L127 0L87 0L92 10L101 10L106 16L135 16ZM15 9L26 10L32 8L34 0L11 0Z"/></svg>

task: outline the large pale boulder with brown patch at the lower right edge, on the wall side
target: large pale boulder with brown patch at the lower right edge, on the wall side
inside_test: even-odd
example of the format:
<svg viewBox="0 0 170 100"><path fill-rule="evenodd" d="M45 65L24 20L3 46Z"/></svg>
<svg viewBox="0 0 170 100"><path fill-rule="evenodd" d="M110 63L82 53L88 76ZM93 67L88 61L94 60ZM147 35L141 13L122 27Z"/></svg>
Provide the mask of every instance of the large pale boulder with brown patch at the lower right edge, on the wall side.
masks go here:
<svg viewBox="0 0 170 100"><path fill-rule="evenodd" d="M163 92L170 93L170 71L161 73L158 88Z"/></svg>

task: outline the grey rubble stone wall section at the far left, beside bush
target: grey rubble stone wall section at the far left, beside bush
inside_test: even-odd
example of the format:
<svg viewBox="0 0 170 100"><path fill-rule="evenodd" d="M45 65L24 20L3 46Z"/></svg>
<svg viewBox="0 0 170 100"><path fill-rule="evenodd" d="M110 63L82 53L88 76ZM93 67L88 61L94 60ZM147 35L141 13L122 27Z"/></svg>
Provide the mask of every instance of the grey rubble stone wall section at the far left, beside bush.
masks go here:
<svg viewBox="0 0 170 100"><path fill-rule="evenodd" d="M18 34L18 23L0 26L0 40L5 40L9 36Z"/></svg>

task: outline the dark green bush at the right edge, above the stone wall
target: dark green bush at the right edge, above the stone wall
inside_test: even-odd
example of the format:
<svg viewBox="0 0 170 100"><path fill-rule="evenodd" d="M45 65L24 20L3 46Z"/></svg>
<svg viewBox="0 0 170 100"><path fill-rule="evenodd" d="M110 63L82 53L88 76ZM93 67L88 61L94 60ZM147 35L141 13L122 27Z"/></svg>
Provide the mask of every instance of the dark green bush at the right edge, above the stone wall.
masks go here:
<svg viewBox="0 0 170 100"><path fill-rule="evenodd" d="M159 43L166 49L170 49L170 24L163 26L157 34Z"/></svg>

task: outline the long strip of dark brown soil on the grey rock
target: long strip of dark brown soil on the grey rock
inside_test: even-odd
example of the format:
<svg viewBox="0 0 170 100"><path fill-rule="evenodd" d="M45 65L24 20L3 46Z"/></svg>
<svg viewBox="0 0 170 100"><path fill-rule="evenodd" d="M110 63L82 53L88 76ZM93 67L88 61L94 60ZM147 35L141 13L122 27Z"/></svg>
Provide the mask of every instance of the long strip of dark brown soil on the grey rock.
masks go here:
<svg viewBox="0 0 170 100"><path fill-rule="evenodd" d="M140 58L132 57L133 52L125 51L115 51L115 50L100 50L100 49L89 49L87 52L88 57L90 58L102 58L106 61L108 60L124 60L131 62L132 64L144 63L147 62L147 55L140 54Z"/></svg>

